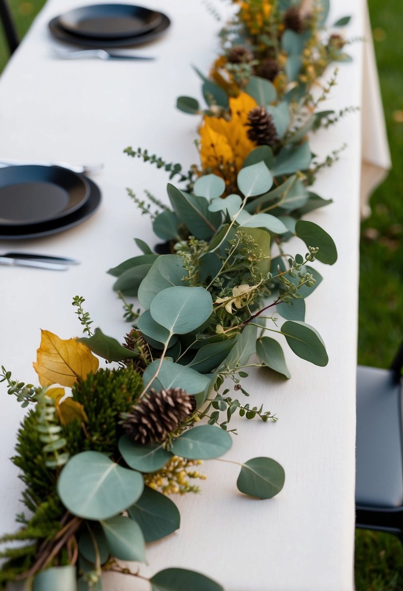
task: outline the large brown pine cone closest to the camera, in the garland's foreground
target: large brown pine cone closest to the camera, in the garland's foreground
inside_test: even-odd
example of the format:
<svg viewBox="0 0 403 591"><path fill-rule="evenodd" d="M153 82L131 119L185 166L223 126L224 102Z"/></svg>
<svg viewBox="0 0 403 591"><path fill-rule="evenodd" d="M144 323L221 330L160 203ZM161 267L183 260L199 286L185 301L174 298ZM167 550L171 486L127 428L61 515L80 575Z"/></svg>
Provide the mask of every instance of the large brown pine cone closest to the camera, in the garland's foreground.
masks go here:
<svg viewBox="0 0 403 591"><path fill-rule="evenodd" d="M127 436L142 445L163 441L196 410L194 396L182 388L151 390L125 414L122 421Z"/></svg>

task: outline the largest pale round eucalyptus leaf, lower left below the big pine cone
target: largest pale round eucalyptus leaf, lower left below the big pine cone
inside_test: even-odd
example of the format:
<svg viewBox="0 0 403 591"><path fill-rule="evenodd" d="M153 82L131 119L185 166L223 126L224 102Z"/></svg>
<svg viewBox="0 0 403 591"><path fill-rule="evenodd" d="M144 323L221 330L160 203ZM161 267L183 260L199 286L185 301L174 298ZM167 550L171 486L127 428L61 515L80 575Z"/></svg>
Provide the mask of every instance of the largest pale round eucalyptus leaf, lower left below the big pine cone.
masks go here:
<svg viewBox="0 0 403 591"><path fill-rule="evenodd" d="M133 505L144 488L138 472L103 453L81 452L61 470L57 492L64 506L84 519L108 519Z"/></svg>

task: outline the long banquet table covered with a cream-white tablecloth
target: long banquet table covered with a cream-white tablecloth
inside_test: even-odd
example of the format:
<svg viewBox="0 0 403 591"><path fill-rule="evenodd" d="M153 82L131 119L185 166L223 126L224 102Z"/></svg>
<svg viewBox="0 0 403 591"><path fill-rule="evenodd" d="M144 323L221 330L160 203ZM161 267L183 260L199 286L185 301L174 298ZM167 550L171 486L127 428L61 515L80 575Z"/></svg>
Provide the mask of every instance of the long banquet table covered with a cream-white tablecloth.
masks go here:
<svg viewBox="0 0 403 591"><path fill-rule="evenodd" d="M85 297L85 310L107 335L122 340L128 324L106 271L141 254L134 238L158 240L126 187L168 203L167 174L123 154L147 148L184 168L197 161L197 118L177 111L179 95L200 97L200 80L191 68L208 72L219 48L217 33L229 6L213 0L144 0L167 12L165 36L139 54L155 61L62 60L52 47L51 18L77 0L49 0L0 77L0 159L104 163L93 177L102 191L99 210L75 228L21 242L0 241L1 252L20 250L69 256L81 261L66 272L0 268L0 363L15 378L35 383L32 361L40 329L63 339L82 327L71 306ZM337 245L333 267L319 262L324 281L307 300L306 322L314 324L329 353L329 365L310 365L286 352L292 377L251 371L248 391L254 404L277 414L275 424L235 420L238 436L225 459L238 462L268 456L284 466L286 479L272 500L257 501L236 490L238 468L205 462L198 496L174 499L181 527L148 545L144 576L165 567L199 570L226 591L352 591L355 532L355 379L358 323L360 188L368 193L389 166L378 80L363 0L332 2L329 22L352 14L346 35L363 38L348 47L353 62L339 65L327 109L362 106L337 125L311 138L325 157L347 144L340 160L325 168L314 190L333 203L310 213ZM328 77L332 73L328 70ZM364 161L364 164L362 164ZM361 171L368 173L361 181ZM369 180L368 180L369 178ZM298 248L298 246L295 246ZM290 245L293 249L293 243ZM21 512L22 483L9 461L24 410L1 384L0 534L15 530ZM108 574L108 591L142 591L134 577ZM191 591L191 590L189 590Z"/></svg>

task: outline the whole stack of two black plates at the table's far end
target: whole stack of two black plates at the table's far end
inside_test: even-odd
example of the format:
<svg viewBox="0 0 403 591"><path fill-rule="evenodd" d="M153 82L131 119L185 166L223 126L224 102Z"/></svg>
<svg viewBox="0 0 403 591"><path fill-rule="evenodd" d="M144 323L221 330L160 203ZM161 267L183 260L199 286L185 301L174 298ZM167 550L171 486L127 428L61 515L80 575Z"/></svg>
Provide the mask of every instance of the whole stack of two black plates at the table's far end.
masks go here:
<svg viewBox="0 0 403 591"><path fill-rule="evenodd" d="M154 41L170 26L162 12L130 4L94 4L53 18L57 39L83 47L107 49Z"/></svg>

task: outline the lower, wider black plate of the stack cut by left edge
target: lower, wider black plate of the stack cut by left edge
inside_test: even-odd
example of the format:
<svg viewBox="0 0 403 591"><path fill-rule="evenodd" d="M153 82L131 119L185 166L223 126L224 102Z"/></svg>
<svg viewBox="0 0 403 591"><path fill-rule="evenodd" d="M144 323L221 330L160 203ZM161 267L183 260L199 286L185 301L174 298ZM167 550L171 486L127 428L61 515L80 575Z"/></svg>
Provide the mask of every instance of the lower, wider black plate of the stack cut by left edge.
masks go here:
<svg viewBox="0 0 403 591"><path fill-rule="evenodd" d="M49 220L48 222L41 222L31 224L30 226L2 226L0 225L0 239L1 240L22 240L28 238L41 238L42 236L50 236L58 232L63 232L69 228L85 222L98 209L101 192L92 180L86 179L89 184L90 193L87 202L77 209L76 212L70 213L58 220Z"/></svg>

